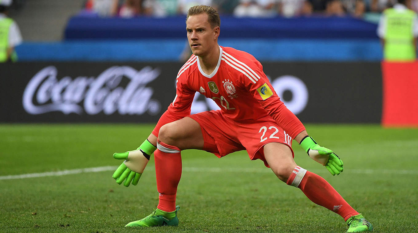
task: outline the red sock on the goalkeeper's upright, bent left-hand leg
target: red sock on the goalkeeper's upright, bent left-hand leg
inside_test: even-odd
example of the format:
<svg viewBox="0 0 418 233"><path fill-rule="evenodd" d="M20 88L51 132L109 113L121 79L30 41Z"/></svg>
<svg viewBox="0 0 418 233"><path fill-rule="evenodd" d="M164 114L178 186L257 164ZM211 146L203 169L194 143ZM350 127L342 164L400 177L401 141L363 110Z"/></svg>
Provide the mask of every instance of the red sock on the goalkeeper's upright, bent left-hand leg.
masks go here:
<svg viewBox="0 0 418 233"><path fill-rule="evenodd" d="M157 208L171 212L176 210L177 185L181 178L180 149L160 140L154 152L155 174L159 201Z"/></svg>

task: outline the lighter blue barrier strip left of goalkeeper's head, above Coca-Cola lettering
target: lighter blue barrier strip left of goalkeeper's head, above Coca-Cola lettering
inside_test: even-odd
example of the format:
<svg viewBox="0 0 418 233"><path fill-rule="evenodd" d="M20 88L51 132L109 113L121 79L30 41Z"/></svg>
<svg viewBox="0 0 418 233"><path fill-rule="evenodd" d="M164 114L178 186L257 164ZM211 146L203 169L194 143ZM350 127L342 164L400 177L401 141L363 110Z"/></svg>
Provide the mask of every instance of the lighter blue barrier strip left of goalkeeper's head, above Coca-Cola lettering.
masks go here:
<svg viewBox="0 0 418 233"><path fill-rule="evenodd" d="M173 61L186 40L26 42L16 47L21 61Z"/></svg>

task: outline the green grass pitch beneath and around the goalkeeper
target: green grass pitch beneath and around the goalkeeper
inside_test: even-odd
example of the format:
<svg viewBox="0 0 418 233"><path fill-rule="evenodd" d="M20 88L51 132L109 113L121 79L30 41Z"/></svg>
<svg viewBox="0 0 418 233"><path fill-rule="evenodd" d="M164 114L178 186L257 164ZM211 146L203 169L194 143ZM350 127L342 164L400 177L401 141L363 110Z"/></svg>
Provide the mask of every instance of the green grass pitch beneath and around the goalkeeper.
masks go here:
<svg viewBox="0 0 418 233"><path fill-rule="evenodd" d="M307 125L321 145L344 161L332 177L295 143L295 160L323 176L377 233L418 229L418 130L379 125ZM0 125L0 176L117 166L114 152L135 149L153 125ZM339 215L311 203L245 151L224 158L182 153L178 227L123 226L158 203L153 159L137 186L113 171L0 180L0 232L329 233L347 229ZM219 169L220 168L220 169ZM224 170L224 172L219 172Z"/></svg>

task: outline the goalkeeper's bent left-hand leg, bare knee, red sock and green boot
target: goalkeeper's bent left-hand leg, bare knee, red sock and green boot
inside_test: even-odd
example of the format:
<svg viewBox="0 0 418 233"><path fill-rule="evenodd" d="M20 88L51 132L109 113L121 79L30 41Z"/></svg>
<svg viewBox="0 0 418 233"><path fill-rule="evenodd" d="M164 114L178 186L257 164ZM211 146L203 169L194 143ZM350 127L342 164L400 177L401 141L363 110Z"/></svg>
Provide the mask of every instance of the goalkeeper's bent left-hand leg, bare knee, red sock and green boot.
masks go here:
<svg viewBox="0 0 418 233"><path fill-rule="evenodd" d="M152 139L152 138L151 138ZM154 152L159 201L147 217L126 226L178 225L177 185L181 178L181 150L203 149L204 139L199 123L185 117L160 128Z"/></svg>

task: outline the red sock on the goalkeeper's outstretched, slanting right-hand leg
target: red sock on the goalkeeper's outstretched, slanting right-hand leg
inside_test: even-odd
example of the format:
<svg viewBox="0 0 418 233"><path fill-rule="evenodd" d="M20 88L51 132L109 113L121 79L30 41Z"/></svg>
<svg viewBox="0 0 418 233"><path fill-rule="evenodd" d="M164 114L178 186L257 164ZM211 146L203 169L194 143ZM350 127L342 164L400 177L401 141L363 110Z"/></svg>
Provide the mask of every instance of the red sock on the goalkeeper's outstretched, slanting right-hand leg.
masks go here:
<svg viewBox="0 0 418 233"><path fill-rule="evenodd" d="M341 215L346 221L352 215L359 214L324 178L299 166L293 170L286 183L296 185L309 200Z"/></svg>

